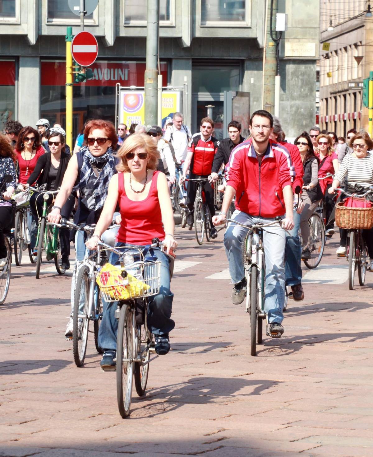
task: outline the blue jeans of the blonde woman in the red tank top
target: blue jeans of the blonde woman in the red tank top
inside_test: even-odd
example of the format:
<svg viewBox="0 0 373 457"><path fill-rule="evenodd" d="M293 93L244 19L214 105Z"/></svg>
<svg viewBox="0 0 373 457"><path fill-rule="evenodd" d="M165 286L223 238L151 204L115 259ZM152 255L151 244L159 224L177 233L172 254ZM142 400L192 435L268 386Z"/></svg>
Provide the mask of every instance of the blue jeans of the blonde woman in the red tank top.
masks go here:
<svg viewBox="0 0 373 457"><path fill-rule="evenodd" d="M116 243L116 246L126 246L126 243ZM149 249L145 255L146 259L148 257L157 257L160 260L161 277L158 295L148 301L147 325L153 335L164 335L175 327L175 322L170 319L173 293L170 290L169 260L159 248ZM111 253L109 261L112 265L115 265L118 262L118 255ZM104 350L116 351L118 319L115 318L115 311L117 305L118 302L108 303L103 300L104 314L99 329L99 346Z"/></svg>

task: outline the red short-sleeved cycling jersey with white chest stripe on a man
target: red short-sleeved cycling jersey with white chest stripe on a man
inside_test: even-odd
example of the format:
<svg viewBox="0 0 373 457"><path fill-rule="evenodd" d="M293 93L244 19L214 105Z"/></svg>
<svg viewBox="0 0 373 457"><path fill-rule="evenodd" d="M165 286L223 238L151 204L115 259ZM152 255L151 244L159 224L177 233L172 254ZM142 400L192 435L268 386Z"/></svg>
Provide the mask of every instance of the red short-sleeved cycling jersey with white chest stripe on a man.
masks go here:
<svg viewBox="0 0 373 457"><path fill-rule="evenodd" d="M193 159L190 164L190 170L194 175L210 175L212 162L219 146L219 141L210 137L206 141L202 134L196 135L190 140L188 151L193 152Z"/></svg>

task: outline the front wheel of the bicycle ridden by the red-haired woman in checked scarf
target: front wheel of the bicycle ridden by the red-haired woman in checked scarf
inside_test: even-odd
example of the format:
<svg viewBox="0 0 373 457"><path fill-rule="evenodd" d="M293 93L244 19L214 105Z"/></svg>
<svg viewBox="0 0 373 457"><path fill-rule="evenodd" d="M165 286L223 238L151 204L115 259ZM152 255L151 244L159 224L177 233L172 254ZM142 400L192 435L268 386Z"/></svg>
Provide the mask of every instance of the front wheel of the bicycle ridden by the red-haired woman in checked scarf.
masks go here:
<svg viewBox="0 0 373 457"><path fill-rule="evenodd" d="M78 271L74 292L73 355L77 367L84 363L87 351L89 327L89 269L82 266Z"/></svg>

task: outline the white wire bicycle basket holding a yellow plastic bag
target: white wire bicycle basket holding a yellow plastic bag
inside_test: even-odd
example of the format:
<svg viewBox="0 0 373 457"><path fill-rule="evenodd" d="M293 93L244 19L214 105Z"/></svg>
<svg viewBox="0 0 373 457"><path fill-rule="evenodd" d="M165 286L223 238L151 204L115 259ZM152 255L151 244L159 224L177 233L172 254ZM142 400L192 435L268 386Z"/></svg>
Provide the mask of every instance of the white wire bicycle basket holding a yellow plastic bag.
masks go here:
<svg viewBox="0 0 373 457"><path fill-rule="evenodd" d="M123 273L127 275L123 277ZM106 263L100 270L96 282L107 302L130 298L150 297L159 292L161 262L144 261L121 268Z"/></svg>

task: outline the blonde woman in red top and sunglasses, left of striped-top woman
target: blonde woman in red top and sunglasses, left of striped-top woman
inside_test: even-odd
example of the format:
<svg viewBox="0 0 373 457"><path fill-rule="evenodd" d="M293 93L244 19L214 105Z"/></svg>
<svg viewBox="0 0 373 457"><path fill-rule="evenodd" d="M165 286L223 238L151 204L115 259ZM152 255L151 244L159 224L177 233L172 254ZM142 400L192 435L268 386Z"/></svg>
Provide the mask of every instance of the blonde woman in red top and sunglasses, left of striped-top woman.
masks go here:
<svg viewBox="0 0 373 457"><path fill-rule="evenodd" d="M321 179L320 186L322 193L324 194L324 205L326 207L326 231L325 236L330 238L334 235L334 220L329 221L331 213L335 205L335 201L332 195L328 193L328 189L331 186L333 179L331 177L325 178L329 173L334 175L338 171L338 156L334 152L333 143L331 136L321 133L317 137L318 150L315 151L315 155L320 160L319 165L319 179Z"/></svg>

